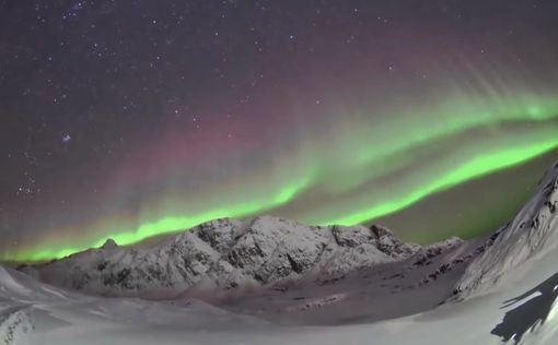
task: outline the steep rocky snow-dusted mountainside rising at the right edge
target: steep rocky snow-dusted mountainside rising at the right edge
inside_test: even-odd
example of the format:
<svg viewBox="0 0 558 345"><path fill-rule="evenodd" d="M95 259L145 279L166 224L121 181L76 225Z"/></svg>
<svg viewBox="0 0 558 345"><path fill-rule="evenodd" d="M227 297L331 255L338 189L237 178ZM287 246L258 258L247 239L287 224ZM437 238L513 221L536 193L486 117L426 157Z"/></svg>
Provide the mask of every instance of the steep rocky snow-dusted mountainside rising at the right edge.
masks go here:
<svg viewBox="0 0 558 345"><path fill-rule="evenodd" d="M518 215L490 237L456 286L461 298L495 287L518 266L558 250L558 163Z"/></svg>

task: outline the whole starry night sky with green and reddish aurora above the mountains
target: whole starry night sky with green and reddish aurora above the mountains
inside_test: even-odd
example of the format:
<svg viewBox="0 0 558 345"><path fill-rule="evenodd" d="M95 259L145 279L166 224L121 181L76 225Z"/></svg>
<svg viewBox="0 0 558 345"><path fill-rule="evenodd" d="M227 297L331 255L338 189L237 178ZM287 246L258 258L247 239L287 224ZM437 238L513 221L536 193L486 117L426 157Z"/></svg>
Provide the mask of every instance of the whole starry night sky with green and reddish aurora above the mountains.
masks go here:
<svg viewBox="0 0 558 345"><path fill-rule="evenodd" d="M558 158L555 0L0 0L0 259L217 217L493 230Z"/></svg>

